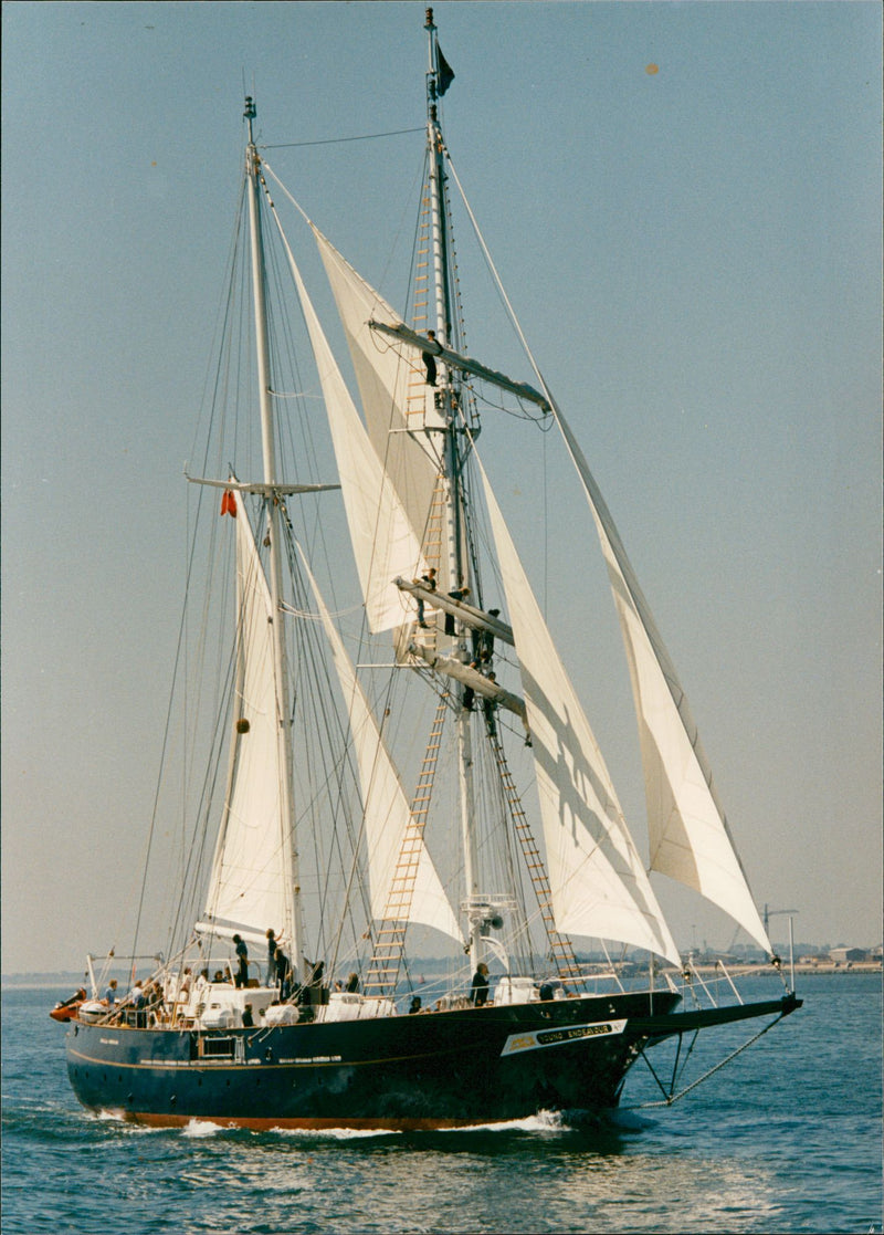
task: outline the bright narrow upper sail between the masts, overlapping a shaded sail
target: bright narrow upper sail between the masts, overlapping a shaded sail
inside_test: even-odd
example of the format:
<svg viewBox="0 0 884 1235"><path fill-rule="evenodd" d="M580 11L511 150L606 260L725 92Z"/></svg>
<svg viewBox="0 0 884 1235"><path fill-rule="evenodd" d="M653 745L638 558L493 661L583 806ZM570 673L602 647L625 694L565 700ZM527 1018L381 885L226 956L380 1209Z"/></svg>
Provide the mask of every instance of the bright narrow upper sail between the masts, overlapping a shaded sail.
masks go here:
<svg viewBox="0 0 884 1235"><path fill-rule="evenodd" d="M353 405L288 242L285 248L325 394L365 615L372 631L378 634L414 620L414 601L393 580L400 574L420 577L427 567L409 517Z"/></svg>

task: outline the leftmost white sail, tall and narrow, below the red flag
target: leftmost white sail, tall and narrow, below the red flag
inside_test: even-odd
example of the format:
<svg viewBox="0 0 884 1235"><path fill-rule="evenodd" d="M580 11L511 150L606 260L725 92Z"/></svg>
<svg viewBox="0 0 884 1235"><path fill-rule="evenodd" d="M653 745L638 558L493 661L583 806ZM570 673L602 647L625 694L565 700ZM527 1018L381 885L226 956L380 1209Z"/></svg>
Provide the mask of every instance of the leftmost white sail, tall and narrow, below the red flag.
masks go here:
<svg viewBox="0 0 884 1235"><path fill-rule="evenodd" d="M230 509L227 501L225 506ZM237 548L237 682L223 818L205 923L263 936L290 915L283 831L285 758L273 671L273 613L243 501L233 501ZM289 895L286 897L286 892ZM286 908L289 906L289 908Z"/></svg>

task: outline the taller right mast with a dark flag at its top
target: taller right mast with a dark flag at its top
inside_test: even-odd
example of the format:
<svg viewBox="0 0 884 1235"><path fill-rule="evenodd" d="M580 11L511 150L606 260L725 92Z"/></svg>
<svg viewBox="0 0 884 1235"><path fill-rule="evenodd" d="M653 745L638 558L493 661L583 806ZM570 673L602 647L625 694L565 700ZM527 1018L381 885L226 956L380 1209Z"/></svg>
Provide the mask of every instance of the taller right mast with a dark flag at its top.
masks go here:
<svg viewBox="0 0 884 1235"><path fill-rule="evenodd" d="M447 89L447 83L440 82L440 48L433 22L433 11L427 9L425 30L427 31L427 151L430 164L430 211L431 211L431 243L433 258L433 283L436 299L436 338L442 347L448 347L453 342L452 331L452 303L448 267L448 235L446 211L446 177L442 131L438 124L440 94ZM462 520L461 503L461 456L458 450L458 408L459 400L452 380L452 369L441 364L438 369L440 393L436 395L437 405L444 420L444 450L443 450L443 477L446 489L446 534L448 551L448 578L456 588L470 588L473 594L472 577L469 573L469 555L464 552L464 529ZM468 659L467 645L463 630L456 636L457 648L454 655L463 661ZM457 682L457 747L458 747L458 778L459 778L459 806L461 806L461 834L463 841L464 860L464 884L468 905L479 897L479 862L474 820L474 792L473 792L473 737L470 731L470 713L463 706L464 687ZM482 920L468 911L469 921L469 955L473 968L483 960Z"/></svg>

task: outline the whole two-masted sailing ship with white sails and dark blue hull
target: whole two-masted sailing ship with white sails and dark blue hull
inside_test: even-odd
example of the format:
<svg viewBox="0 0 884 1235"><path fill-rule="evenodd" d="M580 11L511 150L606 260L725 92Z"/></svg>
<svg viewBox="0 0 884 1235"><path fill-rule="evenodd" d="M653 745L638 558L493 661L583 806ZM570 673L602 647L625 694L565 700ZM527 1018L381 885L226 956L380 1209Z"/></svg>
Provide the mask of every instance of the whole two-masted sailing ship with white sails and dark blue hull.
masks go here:
<svg viewBox="0 0 884 1235"><path fill-rule="evenodd" d="M527 347L531 382L467 348L459 180L441 127L453 74L432 10L426 31L425 177L402 314L277 178L246 100L236 251L248 291L236 300L236 259L221 336L233 348L251 303L253 338L251 359L219 359L214 390L254 433L241 421L219 431L204 474L188 474L194 522L235 561L225 604L200 610L206 630L219 611L228 626L216 641L200 632L216 689L188 700L194 731L199 706L221 720L206 726L212 771L167 952L137 984L133 965L119 1000L102 998L90 958L91 998L72 1005L68 1072L93 1110L153 1125L372 1129L598 1112L617 1105L652 1047L742 1020L767 1029L800 1007L562 409ZM336 342L275 196L319 249ZM312 377L275 277L300 305ZM252 380L242 396L241 373ZM328 446L314 462L320 406ZM730 977L722 998L673 939L491 488L482 421L506 410L530 445L538 430L558 433L595 524L638 716L649 868L747 932L782 978L777 998L743 1002ZM220 422L214 408L214 431ZM415 977L428 967L415 940L423 957L448 947L441 976ZM617 948L647 958L647 976L627 979Z"/></svg>

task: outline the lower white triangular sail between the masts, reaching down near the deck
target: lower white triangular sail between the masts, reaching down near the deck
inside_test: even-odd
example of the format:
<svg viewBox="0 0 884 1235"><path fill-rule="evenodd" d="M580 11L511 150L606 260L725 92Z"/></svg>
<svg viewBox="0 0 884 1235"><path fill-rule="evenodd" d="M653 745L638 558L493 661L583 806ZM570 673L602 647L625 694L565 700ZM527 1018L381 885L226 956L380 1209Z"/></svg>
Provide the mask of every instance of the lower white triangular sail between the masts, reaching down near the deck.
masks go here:
<svg viewBox="0 0 884 1235"><path fill-rule="evenodd" d="M314 597L316 598L316 605L322 619L328 646L332 651L335 668L337 669L341 690L349 714L349 725L363 795L372 915L380 919L386 911L386 899L393 884L393 877L411 813L369 701L357 679L353 662L331 620L302 550L301 559L304 561L304 567L310 579ZM436 930L458 940L458 942L463 937L423 841L420 842L417 873L409 920L421 923L425 926L433 926Z"/></svg>

